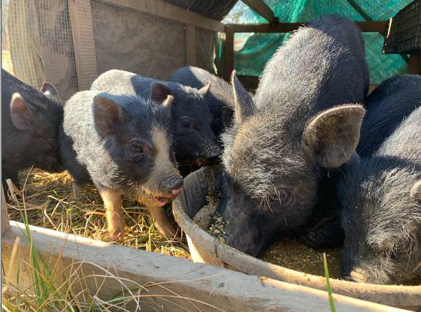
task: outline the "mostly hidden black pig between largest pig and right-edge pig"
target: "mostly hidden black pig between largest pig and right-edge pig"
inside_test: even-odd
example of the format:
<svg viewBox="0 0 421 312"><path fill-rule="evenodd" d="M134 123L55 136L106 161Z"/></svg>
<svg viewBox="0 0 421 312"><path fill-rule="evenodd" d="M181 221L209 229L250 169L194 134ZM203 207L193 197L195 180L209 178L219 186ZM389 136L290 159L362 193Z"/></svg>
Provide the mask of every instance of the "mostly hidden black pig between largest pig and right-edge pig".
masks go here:
<svg viewBox="0 0 421 312"><path fill-rule="evenodd" d="M366 113L361 125L361 136L356 152L361 157L370 156L380 144L393 133L402 119L421 105L421 77L404 74L386 79L366 98ZM319 197L312 226L300 237L310 247L341 245L344 233L341 226L340 203L338 202L338 178L344 168L330 170L329 176L319 184ZM330 236L330 242L326 236ZM319 239L323 245L319 243Z"/></svg>

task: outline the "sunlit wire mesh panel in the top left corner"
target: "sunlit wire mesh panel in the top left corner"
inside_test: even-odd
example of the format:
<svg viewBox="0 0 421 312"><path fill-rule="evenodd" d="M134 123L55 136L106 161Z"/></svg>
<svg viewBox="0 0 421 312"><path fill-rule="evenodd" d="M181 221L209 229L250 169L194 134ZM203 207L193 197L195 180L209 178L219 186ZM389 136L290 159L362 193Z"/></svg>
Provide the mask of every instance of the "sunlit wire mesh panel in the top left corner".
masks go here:
<svg viewBox="0 0 421 312"><path fill-rule="evenodd" d="M67 0L3 0L2 67L39 89L44 81L63 100L77 91Z"/></svg>

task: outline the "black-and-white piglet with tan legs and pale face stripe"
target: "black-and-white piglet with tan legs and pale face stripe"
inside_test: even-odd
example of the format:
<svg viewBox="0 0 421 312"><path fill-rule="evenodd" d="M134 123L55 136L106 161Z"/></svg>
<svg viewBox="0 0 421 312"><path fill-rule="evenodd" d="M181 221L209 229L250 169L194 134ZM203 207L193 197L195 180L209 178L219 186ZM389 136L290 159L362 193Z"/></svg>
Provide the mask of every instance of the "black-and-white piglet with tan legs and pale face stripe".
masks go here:
<svg viewBox="0 0 421 312"><path fill-rule="evenodd" d="M170 150L171 104L171 96L151 103L138 96L83 91L65 105L63 163L76 183L93 181L100 191L113 240L124 233L121 195L144 202L154 216L182 186ZM166 219L156 223L162 233L174 234Z"/></svg>

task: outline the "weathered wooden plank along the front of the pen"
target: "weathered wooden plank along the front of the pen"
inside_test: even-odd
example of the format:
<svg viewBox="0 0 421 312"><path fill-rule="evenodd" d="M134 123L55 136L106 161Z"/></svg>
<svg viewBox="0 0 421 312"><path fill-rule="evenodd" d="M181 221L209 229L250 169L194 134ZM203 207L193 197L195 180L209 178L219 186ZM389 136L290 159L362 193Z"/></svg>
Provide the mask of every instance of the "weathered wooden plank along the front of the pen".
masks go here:
<svg viewBox="0 0 421 312"><path fill-rule="evenodd" d="M72 282L70 273L84 277L83 281L72 283L73 294L80 293L81 285L84 285L98 298L112 299L123 290L115 278L118 277L127 279L123 280L124 284L133 293L137 293L137 285L149 283L147 292L141 294L150 294L154 298L170 295L171 300L150 299L151 305L159 304L160 311L178 311L181 308L186 311L217 311L218 308L222 311L290 311L304 306L307 311L326 311L329 306L326 291L207 264L194 264L187 259L81 238L37 226L29 226L29 230L33 247L46 264L53 264L51 274L60 278L52 280L53 283L62 285L63 279ZM4 272L6 282L15 284L19 276L20 289L30 294L34 287L34 271L28 265L31 263L32 249L25 235L25 225L11 221L11 230L3 237L2 264L7 268ZM17 251L15 254L19 259L11 259L13 249ZM333 297L338 311L403 311L339 294L333 294ZM134 300L126 304L129 311L135 311ZM209 305L217 309L210 309ZM147 306L145 308L149 311Z"/></svg>

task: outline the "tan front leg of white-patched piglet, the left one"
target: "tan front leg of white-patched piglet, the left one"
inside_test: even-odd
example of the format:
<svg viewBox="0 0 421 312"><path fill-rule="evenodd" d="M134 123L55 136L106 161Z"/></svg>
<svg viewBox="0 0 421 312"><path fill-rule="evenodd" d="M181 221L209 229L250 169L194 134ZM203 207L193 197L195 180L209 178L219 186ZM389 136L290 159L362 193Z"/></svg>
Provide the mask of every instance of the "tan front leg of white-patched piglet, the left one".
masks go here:
<svg viewBox="0 0 421 312"><path fill-rule="evenodd" d="M100 190L107 216L109 237L114 241L124 237L123 209L121 208L120 193L112 188Z"/></svg>

